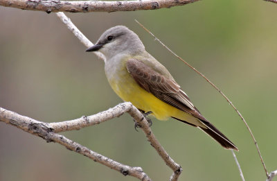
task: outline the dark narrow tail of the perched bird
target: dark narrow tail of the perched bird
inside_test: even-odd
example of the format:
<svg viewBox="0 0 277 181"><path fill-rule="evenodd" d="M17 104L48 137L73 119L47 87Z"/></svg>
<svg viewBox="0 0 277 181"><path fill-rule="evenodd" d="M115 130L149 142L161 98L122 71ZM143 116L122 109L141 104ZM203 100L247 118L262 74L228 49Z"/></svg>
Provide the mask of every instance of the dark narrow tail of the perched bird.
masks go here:
<svg viewBox="0 0 277 181"><path fill-rule="evenodd" d="M206 132L208 135L210 135L213 139L215 139L215 141L217 141L226 149L229 149L229 150L233 149L238 151L237 146L235 146L235 144L233 144L232 141L230 141L227 137L225 137L225 135L223 135L222 132L220 132L220 130L217 130L215 126L213 126L211 123L206 121L202 121L202 123L207 128L201 128L201 127L199 128L202 129L204 132Z"/></svg>

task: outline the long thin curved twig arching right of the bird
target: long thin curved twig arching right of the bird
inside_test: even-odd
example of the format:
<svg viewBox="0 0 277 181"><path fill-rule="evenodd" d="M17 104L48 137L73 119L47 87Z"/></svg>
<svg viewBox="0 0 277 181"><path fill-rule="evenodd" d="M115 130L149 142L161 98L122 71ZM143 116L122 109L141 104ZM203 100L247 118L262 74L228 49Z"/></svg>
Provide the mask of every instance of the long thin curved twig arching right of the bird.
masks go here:
<svg viewBox="0 0 277 181"><path fill-rule="evenodd" d="M256 145L256 148L258 150L258 154L260 156L260 160L262 162L262 166L265 169L265 173L267 175L267 178L269 177L269 174L267 172L267 168L265 167L265 162L262 160L262 155L260 154L260 149L258 147L258 143L251 131L251 129L249 128L247 122L245 121L244 117L242 117L242 114L240 114L240 112L238 111L238 109L235 107L235 105L233 105L233 103L229 100L229 98L227 98L227 96L225 96L225 94L218 88L216 87L210 80L208 80L208 78L206 78L206 76L204 76L201 72L199 72L197 69L195 69L195 67L193 67L192 65L190 65L188 62L186 62L184 59L182 59L181 57L179 57L179 55L177 55L176 53L174 53L171 49L168 48L168 46L166 46L165 44L163 44L163 42L161 42L161 40L159 40L153 33L151 33L147 28L145 28L141 23L139 23L139 21L137 21L135 19L136 23L138 23L142 28L145 29L145 31L147 31L148 33L150 33L150 35L152 35L154 37L155 40L157 40L163 47L165 47L168 51L170 51L170 53L172 53L173 55L175 55L179 60L181 60L182 62L184 62L188 67L190 67L190 69L193 69L197 74L199 74L200 76L202 76L202 78L204 78L208 83L210 83L218 92L220 92L220 94L226 99L226 101L233 107L233 109L235 110L235 112L238 113L239 117L242 119L242 121L244 122L245 126L247 126L247 130L249 130L250 135L254 141L254 144Z"/></svg>

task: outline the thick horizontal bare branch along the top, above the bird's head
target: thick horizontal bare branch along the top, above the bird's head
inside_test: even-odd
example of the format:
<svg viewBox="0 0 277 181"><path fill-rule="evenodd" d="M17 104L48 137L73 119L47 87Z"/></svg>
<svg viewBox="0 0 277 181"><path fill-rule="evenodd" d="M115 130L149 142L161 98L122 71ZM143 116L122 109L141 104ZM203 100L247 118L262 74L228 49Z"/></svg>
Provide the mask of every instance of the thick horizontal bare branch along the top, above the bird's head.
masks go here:
<svg viewBox="0 0 277 181"><path fill-rule="evenodd" d="M0 6L22 10L50 12L115 12L155 10L183 6L199 0L139 0L139 1L59 1L59 0L0 0Z"/></svg>

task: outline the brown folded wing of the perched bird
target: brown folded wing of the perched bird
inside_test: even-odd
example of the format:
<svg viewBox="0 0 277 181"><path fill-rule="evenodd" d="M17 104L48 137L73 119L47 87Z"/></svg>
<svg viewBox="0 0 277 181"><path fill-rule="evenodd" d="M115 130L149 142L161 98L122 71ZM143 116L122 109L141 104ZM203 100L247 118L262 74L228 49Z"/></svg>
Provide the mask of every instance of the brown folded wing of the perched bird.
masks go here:
<svg viewBox="0 0 277 181"><path fill-rule="evenodd" d="M175 80L166 78L136 59L127 60L126 67L129 74L136 80L136 83L147 92L152 93L161 101L179 110L192 114L202 121L207 121L193 103L190 102L186 93L181 90Z"/></svg>

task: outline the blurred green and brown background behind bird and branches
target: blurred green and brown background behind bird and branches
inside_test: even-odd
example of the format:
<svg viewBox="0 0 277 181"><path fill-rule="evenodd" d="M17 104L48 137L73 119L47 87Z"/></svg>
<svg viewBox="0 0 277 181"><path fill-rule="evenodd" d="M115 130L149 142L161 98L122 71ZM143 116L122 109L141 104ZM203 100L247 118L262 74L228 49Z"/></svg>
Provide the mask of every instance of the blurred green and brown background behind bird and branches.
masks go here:
<svg viewBox="0 0 277 181"><path fill-rule="evenodd" d="M277 169L277 5L261 0L205 0L170 9L66 13L89 40L111 26L136 32L204 116L233 141L246 180L265 172L244 123L206 81L146 33L138 19L231 98L260 146L269 171ZM71 120L122 101L109 87L104 63L84 47L55 13L0 7L0 106L39 121ZM240 180L231 151L201 130L152 119L152 130L184 169L180 180ZM152 180L168 180L163 163L128 114L64 135ZM46 144L0 122L0 180L136 180L59 144Z"/></svg>

